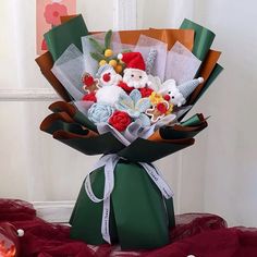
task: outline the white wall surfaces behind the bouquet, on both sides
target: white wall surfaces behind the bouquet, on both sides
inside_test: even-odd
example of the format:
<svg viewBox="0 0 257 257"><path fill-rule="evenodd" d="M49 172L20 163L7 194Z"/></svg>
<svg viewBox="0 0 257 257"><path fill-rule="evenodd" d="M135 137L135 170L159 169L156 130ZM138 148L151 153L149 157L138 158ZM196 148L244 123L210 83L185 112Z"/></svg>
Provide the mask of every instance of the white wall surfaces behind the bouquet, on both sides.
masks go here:
<svg viewBox="0 0 257 257"><path fill-rule="evenodd" d="M112 1L77 2L89 29L112 27ZM23 14L16 13L13 20L8 10L14 3L22 4ZM195 146L158 161L175 191L176 211L208 211L221 215L230 224L257 227L254 136L257 2L138 0L137 3L138 28L178 26L187 16L212 28L217 34L215 47L223 51L220 62L225 71L191 112L211 115L209 128L197 136ZM34 62L34 24L35 1L1 2L0 87L48 87ZM0 197L75 199L88 167L96 160L38 130L48 113L48 103L0 102Z"/></svg>

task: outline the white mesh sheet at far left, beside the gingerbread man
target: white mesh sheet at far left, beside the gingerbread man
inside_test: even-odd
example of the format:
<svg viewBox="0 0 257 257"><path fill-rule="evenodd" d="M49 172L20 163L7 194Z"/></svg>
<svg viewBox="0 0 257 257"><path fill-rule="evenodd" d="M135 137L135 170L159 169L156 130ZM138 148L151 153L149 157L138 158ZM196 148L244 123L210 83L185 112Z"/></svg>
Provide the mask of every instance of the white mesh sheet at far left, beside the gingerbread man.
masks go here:
<svg viewBox="0 0 257 257"><path fill-rule="evenodd" d="M84 73L83 53L71 45L54 62L52 73L65 87L69 94L75 99L81 100L84 96L82 74Z"/></svg>

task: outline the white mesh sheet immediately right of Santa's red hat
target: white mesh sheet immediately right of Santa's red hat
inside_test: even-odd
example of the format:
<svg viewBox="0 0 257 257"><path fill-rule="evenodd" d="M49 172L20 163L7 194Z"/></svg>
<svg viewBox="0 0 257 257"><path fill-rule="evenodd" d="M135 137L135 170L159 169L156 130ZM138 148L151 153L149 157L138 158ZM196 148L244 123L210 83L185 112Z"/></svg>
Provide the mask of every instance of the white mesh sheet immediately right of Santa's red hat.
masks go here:
<svg viewBox="0 0 257 257"><path fill-rule="evenodd" d="M134 51L140 52L144 58L144 61L146 62L151 49L157 50L157 57L154 68L151 70L151 74L154 76L159 76L160 79L163 82L166 75L166 59L168 45L155 38L140 35Z"/></svg>

